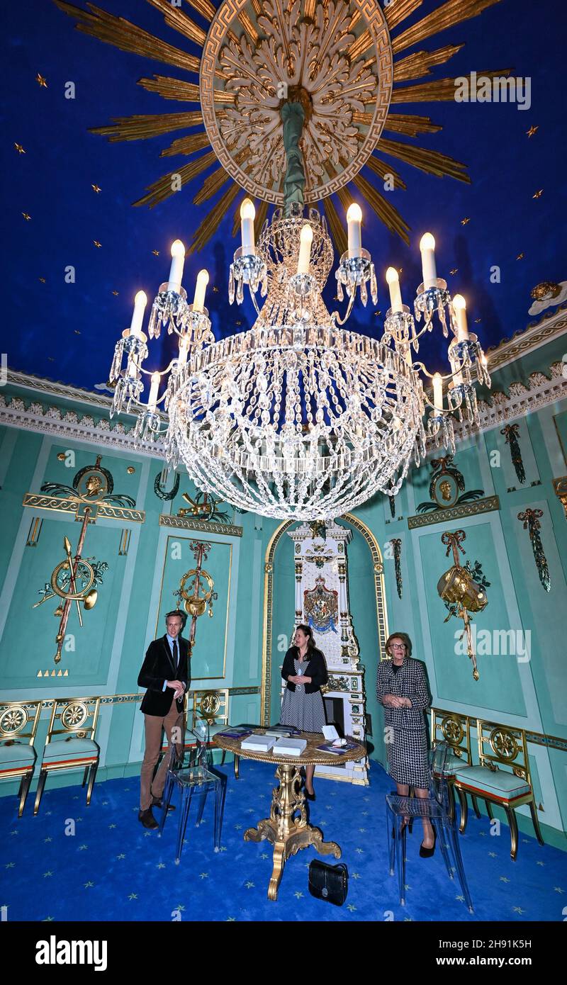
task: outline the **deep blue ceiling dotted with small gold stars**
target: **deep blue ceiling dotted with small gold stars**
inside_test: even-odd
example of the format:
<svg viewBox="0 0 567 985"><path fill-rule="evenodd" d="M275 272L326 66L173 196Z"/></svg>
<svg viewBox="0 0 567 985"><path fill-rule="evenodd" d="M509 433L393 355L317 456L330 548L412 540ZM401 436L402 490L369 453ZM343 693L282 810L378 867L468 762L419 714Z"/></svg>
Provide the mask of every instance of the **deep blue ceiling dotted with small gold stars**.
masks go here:
<svg viewBox="0 0 567 985"><path fill-rule="evenodd" d="M166 28L158 11L143 0L101 3L112 14L200 53ZM407 23L437 6L438 0L424 0ZM446 277L454 294L467 297L471 327L485 349L532 320L530 292L537 283L564 278L565 116L558 83L564 59L562 7L559 0L536 5L532 0L502 0L482 16L416 46L432 50L465 41L449 70L433 70L435 78L512 68L517 76L531 79L532 105L525 110L509 103L396 107L424 113L443 126L442 132L422 136L418 143L466 163L472 184L393 162L408 185L391 194L410 224L410 247L365 207L363 241L376 264L380 296L376 306L370 301L363 309L358 303L351 329L380 334L389 306L383 280L387 266L402 268L404 295L413 296L420 281L418 242L425 230L437 240L438 274ZM3 13L6 19L6 6ZM46 0L11 4L7 21L0 346L11 368L91 390L107 379L114 343L130 323L134 295L141 288L150 299L157 293L167 279L171 241L191 240L208 203L198 208L192 204L200 178L152 210L134 208L132 202L147 186L172 169L169 159L159 160L171 134L110 144L88 130L116 116L195 107L164 104L137 86L141 76L163 72L163 66L78 33L74 22ZM46 85L36 81L38 75ZM75 84L75 99L65 98L68 82ZM528 136L533 127L536 132ZM244 331L254 320L249 303L230 307L227 300L228 264L238 245L231 239L232 214L229 209L213 240L201 253L189 255L185 265L190 296L197 272L202 267L210 271L207 304L217 337ZM500 267L500 283L490 282L493 265ZM70 266L75 283L66 283ZM332 289L326 296L329 304L334 294ZM161 345L166 348L167 340ZM151 349L148 368L165 361L167 354L159 348L155 344ZM427 348L420 358L446 371L446 343L433 341L429 360Z"/></svg>

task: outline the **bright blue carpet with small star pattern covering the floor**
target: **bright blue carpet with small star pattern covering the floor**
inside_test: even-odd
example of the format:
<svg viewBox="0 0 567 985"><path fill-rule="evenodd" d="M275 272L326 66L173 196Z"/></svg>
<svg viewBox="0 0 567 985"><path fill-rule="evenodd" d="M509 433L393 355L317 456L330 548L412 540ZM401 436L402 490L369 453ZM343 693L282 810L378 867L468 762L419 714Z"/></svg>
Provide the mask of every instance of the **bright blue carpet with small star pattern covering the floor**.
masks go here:
<svg viewBox="0 0 567 985"><path fill-rule="evenodd" d="M221 852L213 850L213 802L201 827L187 826L181 864L174 863L177 813L163 836L146 832L137 818L137 777L95 785L91 807L80 786L47 789L32 816L32 794L24 817L17 799L0 799L2 890L0 905L10 921L38 920L413 920L561 921L567 903L567 857L520 836L518 861L510 858L510 833L490 835L489 822L471 817L461 838L473 896L470 914L460 886L448 879L439 850L418 855L421 831L408 837L408 895L402 907L397 877L388 874L384 796L392 781L376 763L369 787L316 779L311 822L339 842L347 863L347 904L314 899L307 866L316 856L307 848L285 865L279 898L267 898L272 848L244 842L242 834L269 813L274 768L241 761L241 779L227 766L228 785ZM158 816L158 811L156 811ZM69 819L75 835L66 834ZM193 823L192 823L193 821ZM334 862L332 857L327 861Z"/></svg>

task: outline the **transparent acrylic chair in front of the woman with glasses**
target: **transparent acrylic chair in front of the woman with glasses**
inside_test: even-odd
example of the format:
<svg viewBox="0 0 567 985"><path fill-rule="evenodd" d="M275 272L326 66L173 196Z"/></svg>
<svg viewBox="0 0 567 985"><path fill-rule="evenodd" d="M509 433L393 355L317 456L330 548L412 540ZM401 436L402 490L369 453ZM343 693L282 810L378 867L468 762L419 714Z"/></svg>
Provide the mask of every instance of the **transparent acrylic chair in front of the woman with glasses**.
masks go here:
<svg viewBox="0 0 567 985"><path fill-rule="evenodd" d="M390 845L390 875L398 866L400 902L406 905L406 838L408 825L405 819L428 818L435 826L437 844L441 849L443 861L453 879L457 873L465 902L473 913L473 900L465 875L459 832L455 813L451 811L449 800L447 766L447 743L437 743L429 753L430 783L428 797L402 797L400 794L387 794L386 821ZM453 864L452 864L453 862Z"/></svg>

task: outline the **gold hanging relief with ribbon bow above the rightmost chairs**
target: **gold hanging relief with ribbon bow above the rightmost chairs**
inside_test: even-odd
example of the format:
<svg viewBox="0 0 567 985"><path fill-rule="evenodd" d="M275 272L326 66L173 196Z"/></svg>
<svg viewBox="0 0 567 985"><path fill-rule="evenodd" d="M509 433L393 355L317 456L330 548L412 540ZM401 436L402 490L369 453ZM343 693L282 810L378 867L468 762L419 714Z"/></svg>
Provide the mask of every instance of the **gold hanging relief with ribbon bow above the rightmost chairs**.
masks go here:
<svg viewBox="0 0 567 985"><path fill-rule="evenodd" d="M480 675L476 667L476 654L474 651L471 617L469 613L482 612L486 608L488 604L486 586L490 582L484 578L478 561L474 562L473 570L471 570L469 561L466 567L463 567L459 563L459 552L465 554L465 549L461 547L461 544L466 538L467 534L464 530L456 530L454 533L446 531L444 534L441 534L441 542L447 545L446 555L448 556L453 551L454 563L439 578L437 591L449 610L449 615L445 622L447 623L447 620L450 620L452 616L457 616L465 624L464 632L467 633L467 649L469 657L473 661L473 679L474 681L478 681ZM474 576L479 580L475 581Z"/></svg>

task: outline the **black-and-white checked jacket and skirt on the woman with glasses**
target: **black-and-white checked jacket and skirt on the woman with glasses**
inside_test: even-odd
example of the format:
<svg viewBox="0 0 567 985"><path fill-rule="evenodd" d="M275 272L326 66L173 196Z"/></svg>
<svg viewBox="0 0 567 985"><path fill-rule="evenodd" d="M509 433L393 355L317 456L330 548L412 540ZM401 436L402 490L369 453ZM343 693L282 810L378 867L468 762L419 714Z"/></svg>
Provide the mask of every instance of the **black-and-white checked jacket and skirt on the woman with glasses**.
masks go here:
<svg viewBox="0 0 567 985"><path fill-rule="evenodd" d="M376 697L382 704L385 694L409 697L410 708L389 708L384 705L388 771L396 783L429 789L430 770L427 757L427 730L424 710L431 704L423 665L406 657L394 670L391 660L378 667Z"/></svg>

